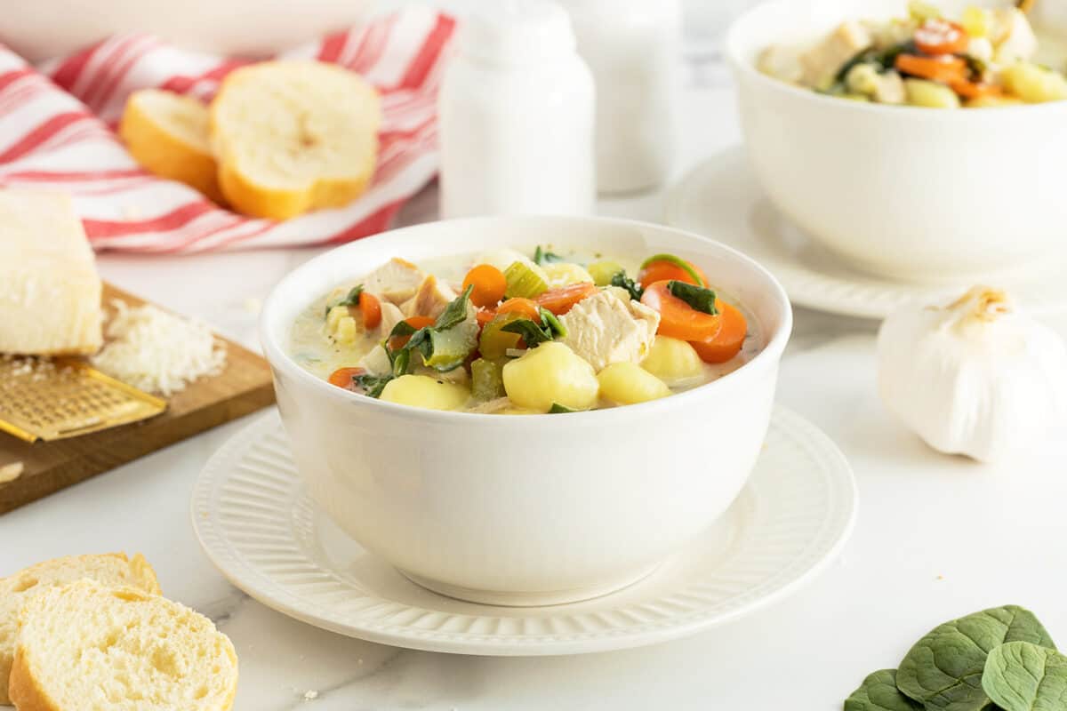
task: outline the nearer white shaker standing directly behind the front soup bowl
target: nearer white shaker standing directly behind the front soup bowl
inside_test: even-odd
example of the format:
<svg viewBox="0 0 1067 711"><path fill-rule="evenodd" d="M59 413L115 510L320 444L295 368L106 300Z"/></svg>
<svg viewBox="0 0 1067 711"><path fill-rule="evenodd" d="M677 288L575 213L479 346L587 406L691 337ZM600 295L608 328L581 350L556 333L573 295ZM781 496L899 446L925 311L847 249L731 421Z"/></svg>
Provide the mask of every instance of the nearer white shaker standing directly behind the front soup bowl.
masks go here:
<svg viewBox="0 0 1067 711"><path fill-rule="evenodd" d="M479 3L441 86L441 213L587 214L595 199L594 92L567 12Z"/></svg>

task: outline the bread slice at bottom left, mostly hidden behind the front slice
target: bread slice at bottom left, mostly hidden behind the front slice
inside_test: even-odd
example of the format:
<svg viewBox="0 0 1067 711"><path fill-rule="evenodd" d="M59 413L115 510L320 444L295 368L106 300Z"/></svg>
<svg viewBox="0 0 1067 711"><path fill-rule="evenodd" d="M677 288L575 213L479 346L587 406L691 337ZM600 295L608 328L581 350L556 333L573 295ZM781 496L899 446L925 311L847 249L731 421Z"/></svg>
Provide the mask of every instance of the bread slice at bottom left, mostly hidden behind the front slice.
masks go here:
<svg viewBox="0 0 1067 711"><path fill-rule="evenodd" d="M144 556L125 553L68 555L31 565L10 578L0 579L0 704L10 704L7 677L15 657L19 610L35 595L57 585L91 578L105 585L128 586L159 594L156 571Z"/></svg>

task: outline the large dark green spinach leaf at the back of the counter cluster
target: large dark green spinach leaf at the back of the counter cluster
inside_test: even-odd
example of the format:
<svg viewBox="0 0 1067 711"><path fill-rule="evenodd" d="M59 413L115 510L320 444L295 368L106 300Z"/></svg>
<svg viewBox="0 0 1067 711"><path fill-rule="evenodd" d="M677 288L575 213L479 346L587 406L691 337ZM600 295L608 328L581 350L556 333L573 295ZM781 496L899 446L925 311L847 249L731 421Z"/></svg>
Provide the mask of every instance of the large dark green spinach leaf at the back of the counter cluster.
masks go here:
<svg viewBox="0 0 1067 711"><path fill-rule="evenodd" d="M1034 613L992 608L934 628L904 657L896 685L927 711L980 711L989 704L982 685L986 657L1007 642L1055 649Z"/></svg>

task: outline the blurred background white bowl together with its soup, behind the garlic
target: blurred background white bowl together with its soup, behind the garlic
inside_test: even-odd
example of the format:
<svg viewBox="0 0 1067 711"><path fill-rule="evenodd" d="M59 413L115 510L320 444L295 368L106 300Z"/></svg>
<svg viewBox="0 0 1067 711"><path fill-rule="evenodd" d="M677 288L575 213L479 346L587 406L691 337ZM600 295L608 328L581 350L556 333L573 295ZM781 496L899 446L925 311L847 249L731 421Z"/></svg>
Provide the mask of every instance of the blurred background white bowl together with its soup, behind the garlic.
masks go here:
<svg viewBox="0 0 1067 711"><path fill-rule="evenodd" d="M957 14L964 12L961 4L942 7L962 19ZM888 62L886 70L876 75L869 65L849 84L846 69L869 42L881 43L873 53L885 49L883 55L895 51L893 43L912 42L908 32L913 35L913 28L899 19L907 16L903 0L776 0L734 23L728 54L737 79L742 125L749 158L769 198L812 239L879 275L967 280L1025 270L1060 253L1067 226L1061 188L1067 165L1067 101L1025 102L1051 98L1063 88L1061 72L1034 64L1049 52L1054 56L1050 61L1063 68L1055 42L1038 32L1041 45L1034 55L1033 46L1020 41L1025 45L1020 51L1034 62L1023 66L1005 54L999 72L990 75L990 82L999 84L983 83L968 53L972 50L939 56L913 46L903 50L909 54L903 61L878 58ZM894 28L903 28L904 34L885 36ZM1003 51L980 45L974 52ZM805 61L792 64L791 48L800 48ZM816 86L819 91L809 86L819 80L803 74L818 71L815 60L830 67L825 86ZM1022 68L1012 70L1024 81L1009 79L1007 69L1016 64ZM941 76L954 66L964 67L967 78L944 74L939 83L907 74ZM795 83L767 75L789 77L791 67L796 69ZM1035 75L1053 94L1033 91ZM907 104L972 102L941 85L945 82L964 94L991 92L974 102L999 106ZM872 95L858 94L866 84ZM881 90L886 96L880 96ZM904 96L905 104L878 102L894 95Z"/></svg>

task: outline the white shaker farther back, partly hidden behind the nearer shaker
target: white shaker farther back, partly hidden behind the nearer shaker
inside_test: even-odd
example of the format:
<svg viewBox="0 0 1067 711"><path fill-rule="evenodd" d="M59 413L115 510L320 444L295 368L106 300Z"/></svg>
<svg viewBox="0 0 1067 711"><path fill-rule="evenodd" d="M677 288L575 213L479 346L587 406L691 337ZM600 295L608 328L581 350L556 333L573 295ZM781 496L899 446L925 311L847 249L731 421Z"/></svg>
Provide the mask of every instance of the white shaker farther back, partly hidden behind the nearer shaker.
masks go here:
<svg viewBox="0 0 1067 711"><path fill-rule="evenodd" d="M596 82L598 189L664 183L678 141L680 0L563 2Z"/></svg>

